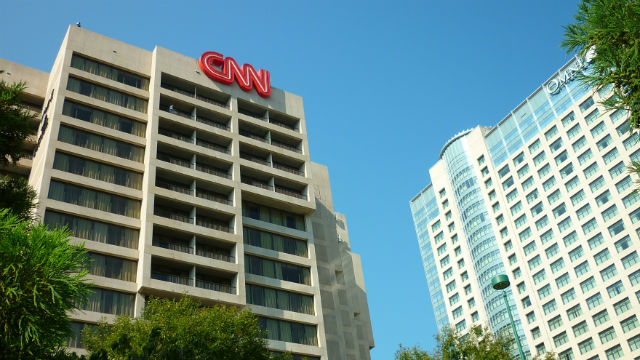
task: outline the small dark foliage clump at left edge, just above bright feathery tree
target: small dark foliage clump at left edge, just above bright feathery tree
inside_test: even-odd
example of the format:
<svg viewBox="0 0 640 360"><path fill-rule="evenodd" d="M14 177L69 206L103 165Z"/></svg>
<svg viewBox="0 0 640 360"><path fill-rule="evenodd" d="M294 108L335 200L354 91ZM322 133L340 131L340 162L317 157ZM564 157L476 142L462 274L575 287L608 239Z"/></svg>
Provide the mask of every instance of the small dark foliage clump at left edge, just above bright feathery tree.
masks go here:
<svg viewBox="0 0 640 360"><path fill-rule="evenodd" d="M9 209L17 217L27 220L35 207L36 191L27 180L18 176L0 179L0 209Z"/></svg>

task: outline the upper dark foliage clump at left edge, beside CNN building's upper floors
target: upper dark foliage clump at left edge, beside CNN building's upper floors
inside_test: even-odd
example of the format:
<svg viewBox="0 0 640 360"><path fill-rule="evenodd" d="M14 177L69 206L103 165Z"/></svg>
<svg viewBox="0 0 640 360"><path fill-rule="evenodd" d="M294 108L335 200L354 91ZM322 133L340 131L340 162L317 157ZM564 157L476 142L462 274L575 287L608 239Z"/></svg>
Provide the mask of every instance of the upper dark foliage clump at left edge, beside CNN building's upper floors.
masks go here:
<svg viewBox="0 0 640 360"><path fill-rule="evenodd" d="M20 160L24 142L35 133L33 114L21 106L25 84L0 81L0 165Z"/></svg>

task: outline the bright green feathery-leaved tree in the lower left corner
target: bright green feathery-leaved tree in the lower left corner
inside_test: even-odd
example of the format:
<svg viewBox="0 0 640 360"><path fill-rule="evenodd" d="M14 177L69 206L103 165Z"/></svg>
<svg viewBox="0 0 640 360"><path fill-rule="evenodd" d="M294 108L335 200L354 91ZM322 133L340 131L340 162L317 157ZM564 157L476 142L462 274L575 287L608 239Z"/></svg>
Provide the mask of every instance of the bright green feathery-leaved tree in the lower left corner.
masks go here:
<svg viewBox="0 0 640 360"><path fill-rule="evenodd" d="M90 292L88 261L66 229L0 211L0 358L47 358L64 344L66 311Z"/></svg>

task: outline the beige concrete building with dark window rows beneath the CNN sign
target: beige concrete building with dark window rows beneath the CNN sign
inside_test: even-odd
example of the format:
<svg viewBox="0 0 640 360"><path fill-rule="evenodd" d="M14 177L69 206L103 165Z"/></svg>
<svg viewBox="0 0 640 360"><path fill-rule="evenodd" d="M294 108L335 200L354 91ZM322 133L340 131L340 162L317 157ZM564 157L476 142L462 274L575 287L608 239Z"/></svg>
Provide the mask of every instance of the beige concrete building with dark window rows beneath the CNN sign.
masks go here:
<svg viewBox="0 0 640 360"><path fill-rule="evenodd" d="M196 59L69 27L50 73L0 60L41 113L16 168L37 216L93 259L78 334L184 293L248 307L273 351L370 359L362 267L310 161L302 98L214 82ZM70 347L80 348L78 336Z"/></svg>

